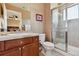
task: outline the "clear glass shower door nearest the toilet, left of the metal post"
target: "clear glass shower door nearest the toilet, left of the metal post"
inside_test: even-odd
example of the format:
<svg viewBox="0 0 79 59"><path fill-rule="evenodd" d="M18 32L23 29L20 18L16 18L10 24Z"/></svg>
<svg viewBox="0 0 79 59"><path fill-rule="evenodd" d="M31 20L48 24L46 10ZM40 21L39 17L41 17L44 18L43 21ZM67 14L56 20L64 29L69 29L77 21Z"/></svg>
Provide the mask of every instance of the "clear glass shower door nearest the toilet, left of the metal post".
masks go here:
<svg viewBox="0 0 79 59"><path fill-rule="evenodd" d="M52 38L55 47L67 51L67 23L66 10L56 8L52 10Z"/></svg>

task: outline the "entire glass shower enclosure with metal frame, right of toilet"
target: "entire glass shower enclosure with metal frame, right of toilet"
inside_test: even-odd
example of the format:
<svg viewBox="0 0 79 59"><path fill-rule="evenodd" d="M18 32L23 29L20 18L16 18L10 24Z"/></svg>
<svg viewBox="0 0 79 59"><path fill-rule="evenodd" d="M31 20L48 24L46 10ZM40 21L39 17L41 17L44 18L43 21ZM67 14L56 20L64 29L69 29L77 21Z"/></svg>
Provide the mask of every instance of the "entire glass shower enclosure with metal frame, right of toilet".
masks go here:
<svg viewBox="0 0 79 59"><path fill-rule="evenodd" d="M79 55L79 4L64 4L52 9L51 13L55 47Z"/></svg>

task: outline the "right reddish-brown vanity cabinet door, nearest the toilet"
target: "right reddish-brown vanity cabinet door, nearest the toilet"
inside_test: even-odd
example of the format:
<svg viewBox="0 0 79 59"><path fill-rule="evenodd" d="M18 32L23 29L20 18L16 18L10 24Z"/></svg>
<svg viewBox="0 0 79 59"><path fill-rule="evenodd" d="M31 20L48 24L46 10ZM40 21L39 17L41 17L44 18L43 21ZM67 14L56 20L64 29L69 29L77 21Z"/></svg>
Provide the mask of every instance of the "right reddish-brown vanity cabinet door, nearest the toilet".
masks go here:
<svg viewBox="0 0 79 59"><path fill-rule="evenodd" d="M39 55L39 47L37 44L29 44L25 45L22 48L23 56L38 56Z"/></svg>

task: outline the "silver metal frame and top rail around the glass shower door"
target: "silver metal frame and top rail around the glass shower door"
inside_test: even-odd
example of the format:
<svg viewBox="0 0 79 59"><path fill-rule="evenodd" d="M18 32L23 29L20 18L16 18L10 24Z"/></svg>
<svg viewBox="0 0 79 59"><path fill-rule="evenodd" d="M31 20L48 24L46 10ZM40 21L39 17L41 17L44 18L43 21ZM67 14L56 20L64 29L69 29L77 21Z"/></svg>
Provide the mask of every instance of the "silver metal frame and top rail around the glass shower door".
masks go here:
<svg viewBox="0 0 79 59"><path fill-rule="evenodd" d="M64 5L66 5L66 4L63 4L63 5L61 5L61 6L58 6L58 7L56 7L56 8L53 8L53 9L51 9L51 15L53 15L53 13L52 13L52 11L53 10L55 10L55 9L58 9L58 8L60 8L60 7L63 7ZM78 3L76 3L76 4L74 4L74 3L72 3L72 4L70 4L70 5L67 5L66 7L64 7L63 8L63 10L65 9L65 20L66 20L66 23L67 23L67 31L65 32L65 50L62 50L62 49L60 49L60 48L57 48L57 47L55 47L55 48L57 48L57 49L60 49L60 50L62 50L62 51L64 51L64 52L68 52L68 19L67 19L67 9L68 8L70 8L70 7L72 7L72 6L75 6L75 5L79 5ZM51 16L51 19L52 19L53 17ZM53 20L52 20L53 21ZM51 24L53 25L53 23L51 22ZM53 27L51 28L52 30L53 30ZM51 32L51 37L52 37L52 40L53 40L53 31ZM54 43L54 42L53 42Z"/></svg>

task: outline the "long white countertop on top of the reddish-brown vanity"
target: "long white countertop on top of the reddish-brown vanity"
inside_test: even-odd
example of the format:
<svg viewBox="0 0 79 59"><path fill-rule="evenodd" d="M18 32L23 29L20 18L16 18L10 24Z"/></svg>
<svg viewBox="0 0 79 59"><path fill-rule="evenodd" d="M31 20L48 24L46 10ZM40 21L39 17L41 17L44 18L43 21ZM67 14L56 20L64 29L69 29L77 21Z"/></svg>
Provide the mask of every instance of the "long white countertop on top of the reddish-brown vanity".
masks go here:
<svg viewBox="0 0 79 59"><path fill-rule="evenodd" d="M0 35L0 41L24 38L24 37L32 37L32 36L39 36L38 33L9 33L6 35Z"/></svg>

